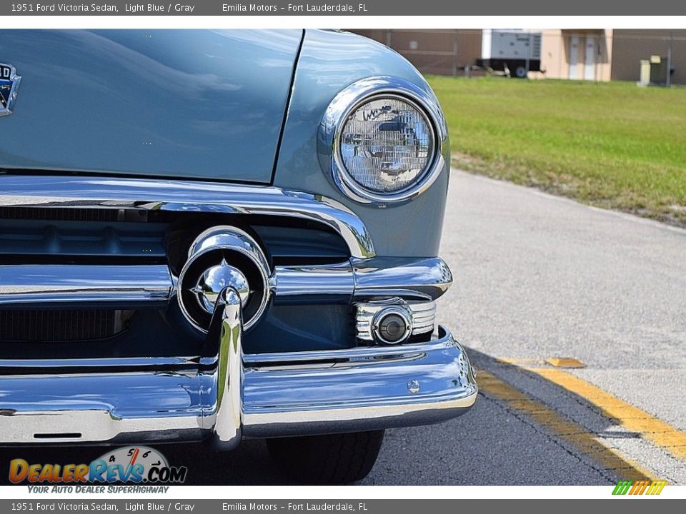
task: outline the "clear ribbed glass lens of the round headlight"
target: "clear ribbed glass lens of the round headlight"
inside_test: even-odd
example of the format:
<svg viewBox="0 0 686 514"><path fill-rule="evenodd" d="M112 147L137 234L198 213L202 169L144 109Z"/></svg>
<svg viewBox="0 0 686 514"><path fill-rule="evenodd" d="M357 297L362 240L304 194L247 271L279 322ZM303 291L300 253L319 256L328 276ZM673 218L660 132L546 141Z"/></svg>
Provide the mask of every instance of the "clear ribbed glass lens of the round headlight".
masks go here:
<svg viewBox="0 0 686 514"><path fill-rule="evenodd" d="M434 158L434 131L424 112L394 96L357 106L339 136L350 178L374 193L396 193L417 183Z"/></svg>

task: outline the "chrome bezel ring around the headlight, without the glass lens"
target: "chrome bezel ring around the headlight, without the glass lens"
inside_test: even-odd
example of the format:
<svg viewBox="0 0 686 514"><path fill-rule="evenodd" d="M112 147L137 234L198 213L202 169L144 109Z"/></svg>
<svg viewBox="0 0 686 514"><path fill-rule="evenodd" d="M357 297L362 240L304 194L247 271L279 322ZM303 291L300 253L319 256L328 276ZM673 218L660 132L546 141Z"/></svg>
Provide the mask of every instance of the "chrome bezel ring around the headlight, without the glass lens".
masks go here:
<svg viewBox="0 0 686 514"><path fill-rule="evenodd" d="M374 99L388 98L406 102L428 121L433 137L433 156L416 181L399 191L382 193L365 188L352 178L343 163L340 140L347 119L354 111ZM362 79L347 86L329 104L320 126L320 141L329 151L334 183L348 198L359 203L397 203L410 200L426 191L447 162L447 138L443 112L430 90L422 89L410 81L388 76Z"/></svg>

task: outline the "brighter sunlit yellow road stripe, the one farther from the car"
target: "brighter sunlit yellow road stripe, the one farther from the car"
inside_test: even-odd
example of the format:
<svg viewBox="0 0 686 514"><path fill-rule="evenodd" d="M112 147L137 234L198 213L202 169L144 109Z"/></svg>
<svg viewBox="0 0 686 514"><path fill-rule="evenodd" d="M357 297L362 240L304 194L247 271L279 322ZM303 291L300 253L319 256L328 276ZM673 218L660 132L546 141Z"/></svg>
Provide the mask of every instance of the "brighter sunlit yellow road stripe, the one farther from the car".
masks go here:
<svg viewBox="0 0 686 514"><path fill-rule="evenodd" d="M542 376L547 381L560 385L572 393L580 395L592 405L602 410L608 418L622 425L630 432L641 434L642 438L664 449L678 459L686 459L686 433L669 423L655 418L654 415L620 400L601 388L588 383L566 371L550 368L523 367L523 369Z"/></svg>

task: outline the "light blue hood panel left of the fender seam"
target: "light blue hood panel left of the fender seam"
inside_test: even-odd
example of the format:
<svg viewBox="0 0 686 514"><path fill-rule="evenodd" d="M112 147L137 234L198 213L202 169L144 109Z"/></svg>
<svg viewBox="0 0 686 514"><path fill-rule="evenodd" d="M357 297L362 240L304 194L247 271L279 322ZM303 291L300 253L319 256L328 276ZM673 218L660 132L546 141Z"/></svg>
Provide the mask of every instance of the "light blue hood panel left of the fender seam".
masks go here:
<svg viewBox="0 0 686 514"><path fill-rule="evenodd" d="M6 31L0 170L268 183L302 31Z"/></svg>

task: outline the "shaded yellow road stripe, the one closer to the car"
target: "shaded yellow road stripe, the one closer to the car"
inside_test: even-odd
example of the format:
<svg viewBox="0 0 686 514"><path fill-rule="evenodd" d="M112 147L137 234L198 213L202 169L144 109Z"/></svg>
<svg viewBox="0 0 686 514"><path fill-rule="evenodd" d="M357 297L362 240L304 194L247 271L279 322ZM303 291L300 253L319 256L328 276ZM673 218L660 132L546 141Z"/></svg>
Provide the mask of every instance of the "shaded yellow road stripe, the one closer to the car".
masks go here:
<svg viewBox="0 0 686 514"><path fill-rule="evenodd" d="M535 422L552 430L557 436L578 448L580 453L589 455L605 469L612 470L620 480L655 480L646 470L620 457L577 423L562 418L552 408L513 388L492 373L479 369L478 381L482 393L504 401L510 408L525 413Z"/></svg>

